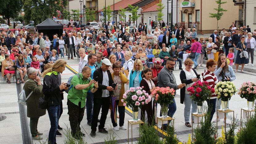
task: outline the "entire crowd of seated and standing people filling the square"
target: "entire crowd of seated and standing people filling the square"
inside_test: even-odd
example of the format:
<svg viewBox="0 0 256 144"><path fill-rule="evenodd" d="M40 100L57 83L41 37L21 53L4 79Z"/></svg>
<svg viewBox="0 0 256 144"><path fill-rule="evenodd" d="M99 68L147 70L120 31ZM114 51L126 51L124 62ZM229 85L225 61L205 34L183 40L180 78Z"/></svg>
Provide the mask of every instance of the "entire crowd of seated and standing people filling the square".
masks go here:
<svg viewBox="0 0 256 144"><path fill-rule="evenodd" d="M196 28L188 28L184 32L183 27L178 26L175 26L173 31L168 26L155 27L153 33L145 29L144 24L143 28L140 25L139 29L134 27L130 32L129 24L126 24L120 26L119 30L115 25L112 28L104 28L103 31L65 30L60 36L53 35L52 42L42 32L31 35L18 29L14 33L2 30L2 76L6 76L6 82L10 84L10 78L16 73L17 84L25 83L26 95L33 92L27 101L27 117L31 119L32 138L42 139L42 133L37 130L37 123L39 117L46 114L46 110L36 105L38 99L43 96L48 102L47 111L51 122L48 140L56 143L56 136L62 135L58 121L63 112L64 91L68 93L70 127L72 136L76 139L85 136L80 128L85 107L87 124L91 126L91 137L96 136L97 126L100 133L108 134L104 127L109 109L113 129L126 130L122 96L125 90L139 86L143 86L143 90L149 95L157 86L181 89L180 103L185 105L185 125L191 127L190 113L196 112L196 104L191 100L187 88L200 80L196 70L205 67L205 57L208 61L202 73L202 80L209 82L212 88L218 81L235 80L234 72L237 72L240 64L243 72L244 65L249 63L245 51L251 55L251 66L254 66L256 30L253 34L248 32L249 26L245 30L242 27L243 35L234 25L228 32L223 29L221 36L215 30L209 37L209 42L203 37L196 37ZM60 73L65 70L69 60L76 56L79 58L79 73L72 77L68 85L61 81ZM234 71L233 63L236 64ZM186 80L186 83L176 83L173 71L177 65L181 70L180 80ZM184 69L182 65L185 66ZM40 76L43 76L43 85ZM28 80L31 82L26 83ZM209 108L212 107L211 119L220 107L220 100L216 98L217 95L213 94L207 100ZM176 111L175 99L173 101L174 103L168 105L170 117L173 117ZM112 107L113 102L119 115ZM141 119L152 124L157 115L153 111L156 106L152 96L152 101L140 111ZM100 110L101 117L98 119ZM166 130L166 127L167 124L163 125L163 130Z"/></svg>

